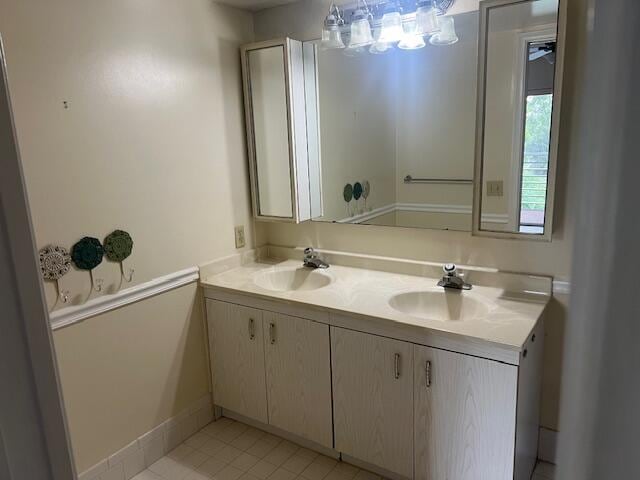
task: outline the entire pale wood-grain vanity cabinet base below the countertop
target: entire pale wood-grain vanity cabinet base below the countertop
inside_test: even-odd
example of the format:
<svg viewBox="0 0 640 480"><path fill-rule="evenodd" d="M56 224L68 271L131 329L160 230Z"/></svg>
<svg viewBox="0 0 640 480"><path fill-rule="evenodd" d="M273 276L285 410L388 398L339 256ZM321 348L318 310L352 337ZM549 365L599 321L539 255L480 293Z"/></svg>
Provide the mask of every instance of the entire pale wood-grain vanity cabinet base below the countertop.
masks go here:
<svg viewBox="0 0 640 480"><path fill-rule="evenodd" d="M207 300L213 396L223 414L395 480L530 478L541 321L508 363L423 345L431 339L367 319L207 294L215 298Z"/></svg>

